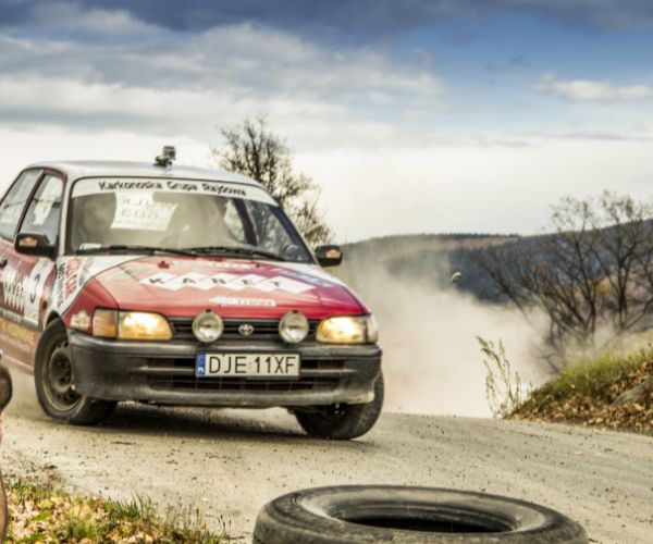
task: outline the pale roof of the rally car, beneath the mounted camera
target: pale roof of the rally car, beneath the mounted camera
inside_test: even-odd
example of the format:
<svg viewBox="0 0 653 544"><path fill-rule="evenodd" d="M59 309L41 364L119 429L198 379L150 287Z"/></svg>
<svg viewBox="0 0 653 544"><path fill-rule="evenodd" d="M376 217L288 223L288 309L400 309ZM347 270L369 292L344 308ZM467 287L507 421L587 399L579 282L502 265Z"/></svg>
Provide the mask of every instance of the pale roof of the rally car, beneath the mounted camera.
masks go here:
<svg viewBox="0 0 653 544"><path fill-rule="evenodd" d="M28 169L48 168L64 173L70 182L81 177L163 177L207 180L213 182L236 182L262 187L262 185L245 175L223 170L198 169L193 166L172 165L156 166L147 162L125 161L44 161L29 164Z"/></svg>

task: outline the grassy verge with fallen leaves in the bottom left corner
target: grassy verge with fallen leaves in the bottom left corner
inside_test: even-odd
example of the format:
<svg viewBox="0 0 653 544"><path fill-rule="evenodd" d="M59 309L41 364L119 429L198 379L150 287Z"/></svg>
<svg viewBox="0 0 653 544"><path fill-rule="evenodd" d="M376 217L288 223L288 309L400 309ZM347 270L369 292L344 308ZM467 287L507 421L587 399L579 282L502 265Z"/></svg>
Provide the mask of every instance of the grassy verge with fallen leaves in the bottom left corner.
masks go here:
<svg viewBox="0 0 653 544"><path fill-rule="evenodd" d="M150 500L119 502L66 493L51 484L10 478L5 482L10 523L8 543L133 542L220 543L198 511L159 517Z"/></svg>

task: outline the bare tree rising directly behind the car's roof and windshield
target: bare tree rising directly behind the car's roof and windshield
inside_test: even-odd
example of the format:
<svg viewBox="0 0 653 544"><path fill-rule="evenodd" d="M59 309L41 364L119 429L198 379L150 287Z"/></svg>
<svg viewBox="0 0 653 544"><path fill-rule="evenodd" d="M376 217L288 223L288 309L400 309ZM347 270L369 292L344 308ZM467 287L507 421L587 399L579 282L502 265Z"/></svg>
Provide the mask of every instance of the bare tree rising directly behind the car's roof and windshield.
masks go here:
<svg viewBox="0 0 653 544"><path fill-rule="evenodd" d="M266 118L246 119L243 124L220 132L226 145L211 148L211 152L221 168L263 184L309 243L331 238L319 206L320 187L309 176L294 172L291 149L268 128Z"/></svg>

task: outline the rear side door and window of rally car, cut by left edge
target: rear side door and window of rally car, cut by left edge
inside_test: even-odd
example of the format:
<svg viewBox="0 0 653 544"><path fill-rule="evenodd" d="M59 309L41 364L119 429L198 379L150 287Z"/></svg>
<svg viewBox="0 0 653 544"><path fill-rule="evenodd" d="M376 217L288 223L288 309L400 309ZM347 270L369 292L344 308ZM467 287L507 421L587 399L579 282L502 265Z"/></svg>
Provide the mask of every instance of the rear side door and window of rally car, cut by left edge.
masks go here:
<svg viewBox="0 0 653 544"><path fill-rule="evenodd" d="M24 285L13 243L41 175L40 169L25 170L0 201L0 347L12 362L24 361L34 349L34 337L23 327Z"/></svg>

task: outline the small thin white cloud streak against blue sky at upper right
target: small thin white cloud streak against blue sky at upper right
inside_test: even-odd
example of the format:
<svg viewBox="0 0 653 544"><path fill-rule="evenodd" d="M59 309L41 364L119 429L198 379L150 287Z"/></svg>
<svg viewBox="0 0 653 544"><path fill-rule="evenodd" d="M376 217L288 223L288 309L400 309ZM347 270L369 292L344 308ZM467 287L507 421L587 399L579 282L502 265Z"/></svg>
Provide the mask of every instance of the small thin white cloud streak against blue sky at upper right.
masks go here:
<svg viewBox="0 0 653 544"><path fill-rule="evenodd" d="M619 102L653 99L653 86L616 85L611 82L572 79L560 82L555 74L544 74L535 90L556 95L574 102Z"/></svg>

